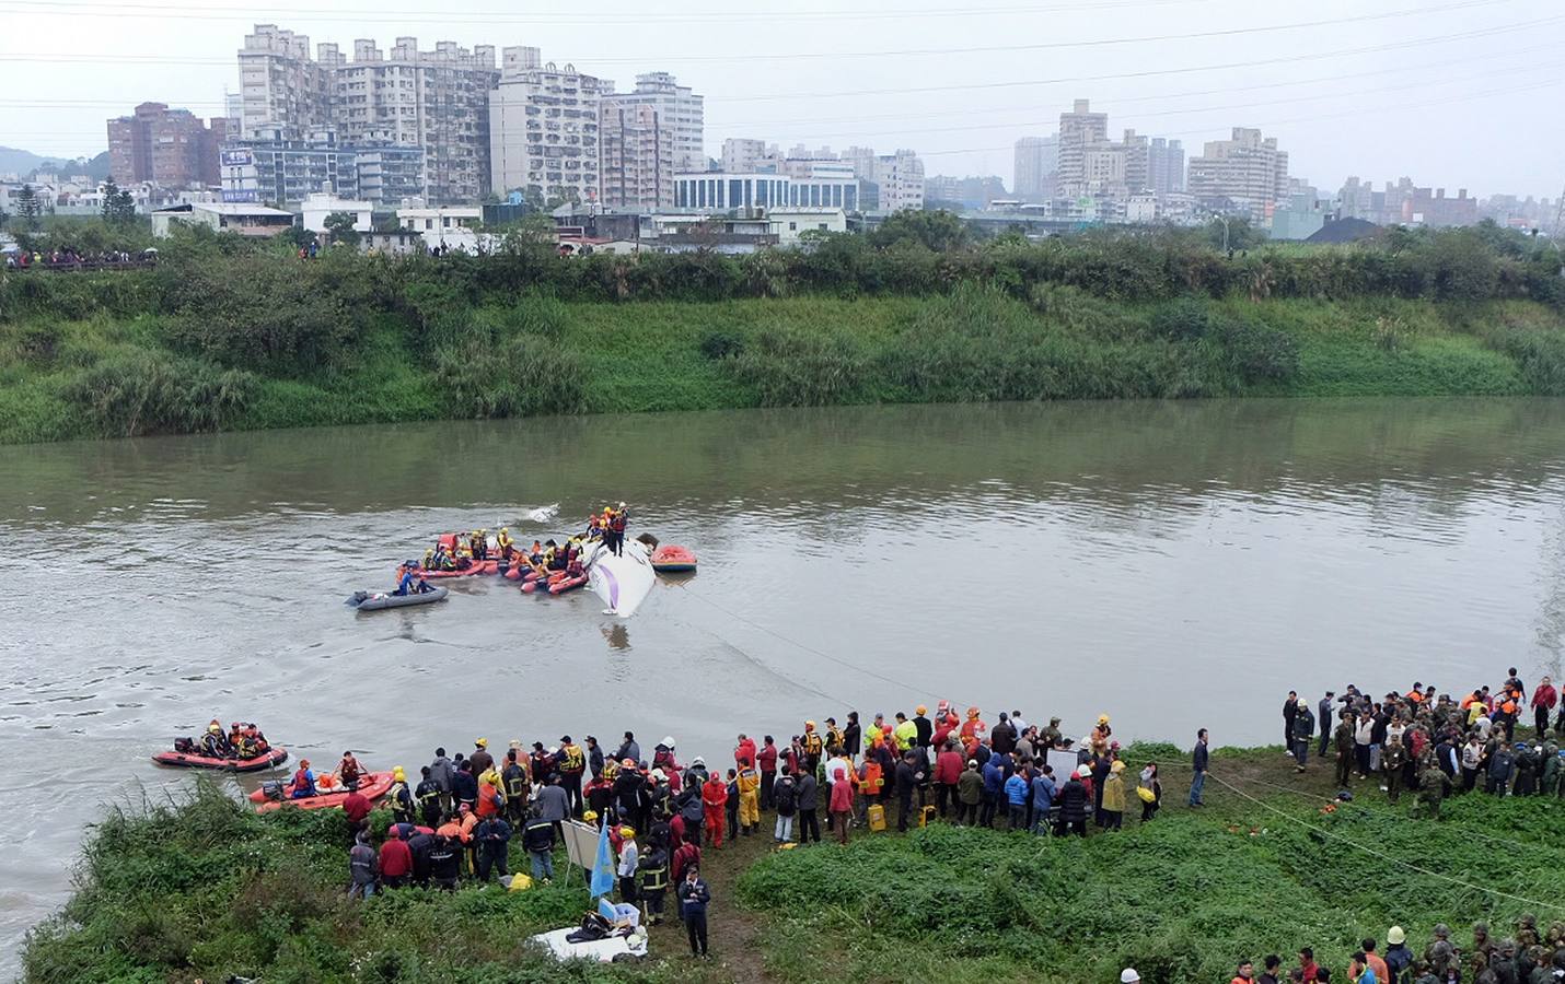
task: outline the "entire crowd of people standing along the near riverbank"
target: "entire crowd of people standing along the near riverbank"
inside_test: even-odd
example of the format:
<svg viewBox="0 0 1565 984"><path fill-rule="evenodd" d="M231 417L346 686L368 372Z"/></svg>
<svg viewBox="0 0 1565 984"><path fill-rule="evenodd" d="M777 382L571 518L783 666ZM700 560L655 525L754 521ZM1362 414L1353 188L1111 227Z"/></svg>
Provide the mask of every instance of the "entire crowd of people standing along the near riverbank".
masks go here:
<svg viewBox="0 0 1565 984"><path fill-rule="evenodd" d="M1355 776L1379 781L1393 801L1404 788L1415 792L1432 817L1438 817L1444 795L1452 788L1476 788L1479 776L1485 779L1484 788L1496 795L1562 795L1565 759L1548 731L1557 693L1548 677L1534 691L1527 706L1542 731L1535 731L1531 743L1516 740L1524 695L1515 670L1496 695L1479 687L1460 699L1437 696L1435 688L1423 684L1379 701L1347 687L1341 696L1326 691L1311 709L1291 693L1285 706L1288 754L1297 768L1308 768L1316 716L1335 716L1330 743L1322 740L1318 748L1321 754L1335 748L1340 785L1349 785ZM1526 754L1516 746L1526 746ZM509 843L518 835L531 881L549 882L556 876L552 853L563 839L563 823L581 820L607 831L621 901L643 906L649 921L660 921L671 885L679 917L692 917L685 884L692 876L696 879L690 884L700 884L700 890L692 889L701 896L700 932L692 928L690 945L700 954L706 951L711 901L698 874L703 851L721 851L734 839L764 837L762 813L770 813L767 832L778 845L818 843L822 820L825 837L847 843L851 828L886 829L892 812L898 831L948 820L1033 835L1086 837L1089 824L1121 829L1127 803L1141 807L1142 823L1152 821L1163 806L1158 765L1141 763L1131 773L1131 784L1122 751L1108 715L1100 715L1083 738L1072 740L1061 731L1060 718L1039 726L1011 710L1000 712L991 724L978 707L958 713L948 701L941 701L933 715L919 706L911 716L875 715L869 723L858 712L848 712L840 724L833 716L823 726L804 721L787 740L761 735L757 742L739 734L732 765L709 765L703 756L681 762L673 737L659 740L646 756L632 732L624 732L612 749L595 735L579 745L562 735L554 745L534 742L531 748L512 740L499 759L479 738L466 756L451 757L443 748L435 749L416 782L398 768L387 795L393 824L379 849L363 826L368 803L354 810L357 815L351 813L360 828L351 849L352 890L371 895L377 885L449 890L462 879L488 882L509 874ZM1202 729L1191 754L1186 799L1191 807L1205 803L1208 771L1208 734ZM1401 936L1391 929L1383 956L1374 940L1365 940L1346 979L1354 984L1468 979L1424 973L1426 965L1435 975L1455 967L1452 954L1460 951L1438 945L1440 940L1424 961L1402 961L1407 946ZM1549 940L1559 943L1559 934L1551 931ZM1502 942L1473 953L1480 950L1485 961L1493 959L1498 984L1565 981L1565 973L1529 976L1537 968L1554 973L1559 961L1565 961L1546 956L1540 962L1535 945L1542 943L1523 945L1518 939L1515 945ZM1506 967L1526 973L1509 976ZM1288 976L1277 973L1279 962L1268 957L1260 968L1250 962L1239 965L1235 981L1332 979L1307 959Z"/></svg>

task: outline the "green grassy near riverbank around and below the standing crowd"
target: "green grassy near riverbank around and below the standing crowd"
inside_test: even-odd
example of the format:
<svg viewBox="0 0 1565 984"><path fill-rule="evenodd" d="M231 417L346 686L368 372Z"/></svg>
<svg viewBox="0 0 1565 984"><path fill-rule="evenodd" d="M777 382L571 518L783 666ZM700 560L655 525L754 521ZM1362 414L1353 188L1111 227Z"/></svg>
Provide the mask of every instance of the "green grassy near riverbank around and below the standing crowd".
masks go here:
<svg viewBox="0 0 1565 984"><path fill-rule="evenodd" d="M258 818L205 790L97 828L78 893L30 939L25 973L36 982L264 971L266 981L1085 984L1131 964L1172 984L1225 979L1241 956L1286 957L1304 945L1340 971L1363 936L1383 940L1393 923L1421 950L1437 921L1482 918L1504 936L1523 910L1545 923L1559 915L1504 898L1552 898L1545 873L1565 837L1557 801L1474 793L1448 799L1440 821L1410 820L1410 798L1390 806L1358 782L1354 804L1322 813L1330 767L1296 776L1268 748L1218 752L1210 806L1189 810L1185 756L1130 751L1135 763L1164 763L1167 806L1150 824L1133 810L1125 831L1085 842L945 824L858 834L845 849L773 851L770 837L747 839L707 853L714 961L690 962L665 926L653 959L612 968L560 970L521 942L577 921L579 889L349 903L340 815Z"/></svg>

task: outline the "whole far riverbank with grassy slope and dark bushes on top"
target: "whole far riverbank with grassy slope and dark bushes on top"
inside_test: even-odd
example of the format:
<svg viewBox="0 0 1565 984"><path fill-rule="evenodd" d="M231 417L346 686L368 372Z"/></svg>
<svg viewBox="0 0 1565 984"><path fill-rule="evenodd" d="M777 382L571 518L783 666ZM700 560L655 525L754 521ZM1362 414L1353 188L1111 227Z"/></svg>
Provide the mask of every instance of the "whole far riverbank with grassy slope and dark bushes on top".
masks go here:
<svg viewBox="0 0 1565 984"><path fill-rule="evenodd" d="M1487 238L1485 238L1487 236ZM197 238L199 239L199 238ZM1498 230L1222 257L995 242L0 274L0 443L876 402L1565 394L1565 289Z"/></svg>

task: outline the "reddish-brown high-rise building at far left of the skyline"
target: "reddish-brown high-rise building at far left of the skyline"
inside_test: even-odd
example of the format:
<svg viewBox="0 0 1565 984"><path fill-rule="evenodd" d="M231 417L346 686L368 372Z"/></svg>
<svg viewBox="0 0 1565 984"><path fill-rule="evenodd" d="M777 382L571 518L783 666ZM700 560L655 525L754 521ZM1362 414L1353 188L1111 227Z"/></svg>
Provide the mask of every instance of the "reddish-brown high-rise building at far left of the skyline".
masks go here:
<svg viewBox="0 0 1565 984"><path fill-rule="evenodd" d="M210 124L189 110L141 103L131 116L108 120L110 177L121 185L152 181L163 188L218 183L218 149L232 120Z"/></svg>

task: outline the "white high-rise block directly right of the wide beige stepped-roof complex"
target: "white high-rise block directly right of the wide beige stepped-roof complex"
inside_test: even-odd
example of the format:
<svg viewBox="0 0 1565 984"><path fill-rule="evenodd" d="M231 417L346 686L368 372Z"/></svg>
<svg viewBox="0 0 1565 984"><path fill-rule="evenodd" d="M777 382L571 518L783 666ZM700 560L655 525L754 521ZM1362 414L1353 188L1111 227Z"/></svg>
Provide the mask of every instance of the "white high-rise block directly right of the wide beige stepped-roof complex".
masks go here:
<svg viewBox="0 0 1565 984"><path fill-rule="evenodd" d="M505 48L490 92L490 171L496 192L598 202L598 128L613 83L576 66L538 64L538 48Z"/></svg>

